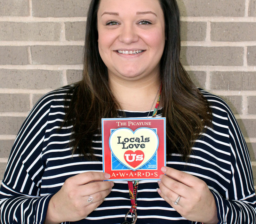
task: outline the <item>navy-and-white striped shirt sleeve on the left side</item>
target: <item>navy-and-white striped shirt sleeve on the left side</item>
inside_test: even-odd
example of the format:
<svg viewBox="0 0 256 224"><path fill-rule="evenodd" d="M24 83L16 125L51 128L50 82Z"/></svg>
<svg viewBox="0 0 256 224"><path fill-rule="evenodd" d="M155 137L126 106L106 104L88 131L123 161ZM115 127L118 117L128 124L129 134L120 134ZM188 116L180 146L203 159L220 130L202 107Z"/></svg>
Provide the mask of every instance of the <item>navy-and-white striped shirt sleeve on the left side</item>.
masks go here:
<svg viewBox="0 0 256 224"><path fill-rule="evenodd" d="M40 196L45 128L53 94L46 94L29 113L14 141L0 188L0 223L44 222L51 194Z"/></svg>

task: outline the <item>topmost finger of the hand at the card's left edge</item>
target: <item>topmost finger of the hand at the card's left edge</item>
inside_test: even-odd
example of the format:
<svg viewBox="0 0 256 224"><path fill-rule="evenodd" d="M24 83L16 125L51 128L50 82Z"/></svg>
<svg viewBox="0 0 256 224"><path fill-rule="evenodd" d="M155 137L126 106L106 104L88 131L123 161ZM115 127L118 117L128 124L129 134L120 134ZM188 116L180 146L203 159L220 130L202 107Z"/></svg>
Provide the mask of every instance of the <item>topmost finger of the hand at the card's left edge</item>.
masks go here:
<svg viewBox="0 0 256 224"><path fill-rule="evenodd" d="M83 185L93 180L108 180L110 178L110 174L105 172L84 172L79 173L69 179L72 180L76 185Z"/></svg>

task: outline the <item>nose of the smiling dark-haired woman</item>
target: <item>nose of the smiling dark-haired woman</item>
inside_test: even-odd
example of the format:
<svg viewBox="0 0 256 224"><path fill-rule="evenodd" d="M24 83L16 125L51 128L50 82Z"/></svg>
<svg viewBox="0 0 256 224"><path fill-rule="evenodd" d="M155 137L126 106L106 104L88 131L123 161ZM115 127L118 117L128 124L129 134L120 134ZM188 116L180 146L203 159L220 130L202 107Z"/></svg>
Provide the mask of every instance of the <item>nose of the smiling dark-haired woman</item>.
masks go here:
<svg viewBox="0 0 256 224"><path fill-rule="evenodd" d="M139 36L136 32L136 28L133 25L123 26L120 29L119 41L125 44L131 44L133 42L137 42L139 40Z"/></svg>

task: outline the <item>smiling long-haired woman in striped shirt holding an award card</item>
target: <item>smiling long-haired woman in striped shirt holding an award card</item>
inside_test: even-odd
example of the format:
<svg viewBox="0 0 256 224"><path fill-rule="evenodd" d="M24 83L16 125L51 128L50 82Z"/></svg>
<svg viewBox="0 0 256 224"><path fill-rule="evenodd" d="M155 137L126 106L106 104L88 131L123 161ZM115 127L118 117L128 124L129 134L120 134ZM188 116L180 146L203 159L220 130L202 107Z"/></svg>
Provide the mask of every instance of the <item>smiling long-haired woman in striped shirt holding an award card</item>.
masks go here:
<svg viewBox="0 0 256 224"><path fill-rule="evenodd" d="M244 138L225 102L191 83L179 30L175 0L92 0L83 80L46 94L22 125L2 223L129 223L127 181L102 181L100 120L152 116L160 93L167 167L140 181L136 223L256 223Z"/></svg>

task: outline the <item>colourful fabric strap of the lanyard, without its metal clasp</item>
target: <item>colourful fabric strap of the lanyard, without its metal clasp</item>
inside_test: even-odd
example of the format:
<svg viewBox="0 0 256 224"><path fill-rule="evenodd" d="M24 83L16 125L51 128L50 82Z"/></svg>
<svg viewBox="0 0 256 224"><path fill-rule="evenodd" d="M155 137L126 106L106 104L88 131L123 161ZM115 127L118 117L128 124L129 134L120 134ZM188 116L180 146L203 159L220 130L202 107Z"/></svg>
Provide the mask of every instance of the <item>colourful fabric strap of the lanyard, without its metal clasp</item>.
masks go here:
<svg viewBox="0 0 256 224"><path fill-rule="evenodd" d="M161 92L162 92L162 85L160 87L160 94L159 94L158 100L156 102L156 107L154 109L152 117L156 117L157 110L158 110L158 107L159 107ZM132 207L130 208L130 212L132 214L134 213L134 211L136 212L136 209L137 209L137 203L136 202L137 202L138 186L139 186L139 181L138 180L134 180L134 183L131 180L128 181L129 194L130 194L130 199L131 199L131 204L132 204ZM133 222L133 223L135 223L135 222Z"/></svg>

